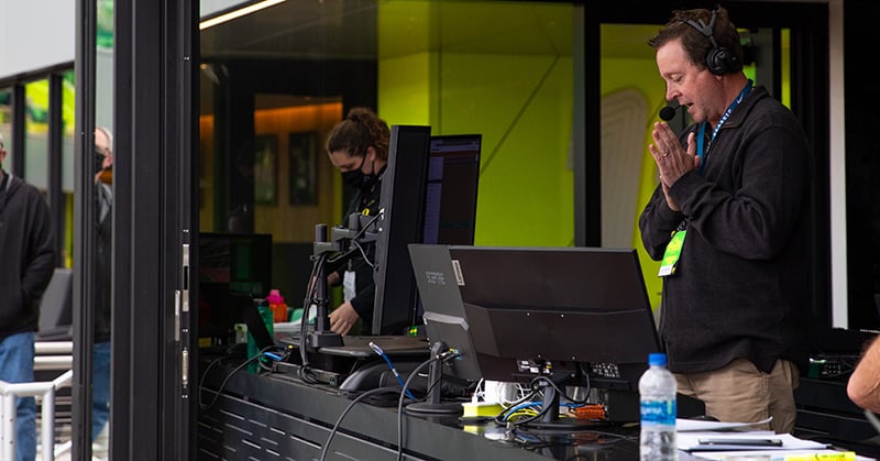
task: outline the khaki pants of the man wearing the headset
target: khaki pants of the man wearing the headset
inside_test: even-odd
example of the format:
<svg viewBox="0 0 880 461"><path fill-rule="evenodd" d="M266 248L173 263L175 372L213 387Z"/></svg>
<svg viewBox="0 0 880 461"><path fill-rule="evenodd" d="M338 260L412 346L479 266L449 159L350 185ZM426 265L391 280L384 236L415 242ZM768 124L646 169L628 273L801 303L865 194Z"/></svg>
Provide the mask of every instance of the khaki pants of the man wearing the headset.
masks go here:
<svg viewBox="0 0 880 461"><path fill-rule="evenodd" d="M768 374L746 359L703 373L675 374L679 393L706 404L706 415L724 422L755 422L772 416L770 424L751 427L777 433L794 430L794 389L800 373L788 360L778 360Z"/></svg>

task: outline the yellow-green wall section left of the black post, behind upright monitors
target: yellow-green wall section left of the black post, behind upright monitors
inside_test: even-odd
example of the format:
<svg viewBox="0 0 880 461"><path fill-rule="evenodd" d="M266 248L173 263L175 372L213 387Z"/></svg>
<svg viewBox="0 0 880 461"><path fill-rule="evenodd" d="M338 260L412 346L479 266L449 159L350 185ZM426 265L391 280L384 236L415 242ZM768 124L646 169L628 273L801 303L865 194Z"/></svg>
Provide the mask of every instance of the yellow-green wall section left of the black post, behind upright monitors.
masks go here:
<svg viewBox="0 0 880 461"><path fill-rule="evenodd" d="M483 134L477 245L573 244L572 97L570 56L425 53L380 63L388 123Z"/></svg>

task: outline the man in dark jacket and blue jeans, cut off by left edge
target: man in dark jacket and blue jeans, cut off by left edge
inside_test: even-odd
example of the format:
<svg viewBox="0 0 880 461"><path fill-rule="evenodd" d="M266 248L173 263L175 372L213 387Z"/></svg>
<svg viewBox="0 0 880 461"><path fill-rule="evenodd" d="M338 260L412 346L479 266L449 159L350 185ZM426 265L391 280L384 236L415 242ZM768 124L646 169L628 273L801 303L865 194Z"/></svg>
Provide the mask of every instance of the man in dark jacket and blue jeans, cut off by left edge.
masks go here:
<svg viewBox="0 0 880 461"><path fill-rule="evenodd" d="M34 381L40 299L55 271L52 215L36 187L3 171L0 136L0 381ZM21 161L21 158L19 158ZM36 400L18 397L19 461L36 458Z"/></svg>

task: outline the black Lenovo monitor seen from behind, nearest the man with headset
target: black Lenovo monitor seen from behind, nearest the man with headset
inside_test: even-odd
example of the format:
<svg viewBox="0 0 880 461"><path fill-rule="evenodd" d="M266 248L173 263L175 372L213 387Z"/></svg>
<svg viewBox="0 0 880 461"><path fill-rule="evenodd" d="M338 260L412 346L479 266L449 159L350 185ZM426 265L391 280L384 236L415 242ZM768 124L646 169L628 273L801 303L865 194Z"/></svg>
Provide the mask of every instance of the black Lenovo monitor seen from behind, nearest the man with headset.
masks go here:
<svg viewBox="0 0 880 461"><path fill-rule="evenodd" d="M632 249L451 246L483 377L638 391L660 340Z"/></svg>

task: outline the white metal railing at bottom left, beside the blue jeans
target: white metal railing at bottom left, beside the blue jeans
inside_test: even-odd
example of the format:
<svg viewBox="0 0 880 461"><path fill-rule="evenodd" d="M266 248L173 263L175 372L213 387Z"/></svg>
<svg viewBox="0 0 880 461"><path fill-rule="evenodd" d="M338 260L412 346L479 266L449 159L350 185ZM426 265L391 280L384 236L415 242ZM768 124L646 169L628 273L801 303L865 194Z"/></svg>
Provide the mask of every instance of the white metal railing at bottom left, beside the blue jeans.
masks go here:
<svg viewBox="0 0 880 461"><path fill-rule="evenodd" d="M0 381L0 460L15 459L15 398L35 397L42 405L41 444L44 461L55 459L55 391L69 386L74 378L74 343L70 341L36 342L34 370L66 370L58 377L40 383ZM67 355L45 355L63 354Z"/></svg>

